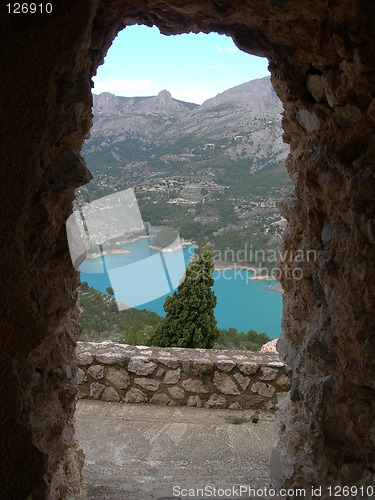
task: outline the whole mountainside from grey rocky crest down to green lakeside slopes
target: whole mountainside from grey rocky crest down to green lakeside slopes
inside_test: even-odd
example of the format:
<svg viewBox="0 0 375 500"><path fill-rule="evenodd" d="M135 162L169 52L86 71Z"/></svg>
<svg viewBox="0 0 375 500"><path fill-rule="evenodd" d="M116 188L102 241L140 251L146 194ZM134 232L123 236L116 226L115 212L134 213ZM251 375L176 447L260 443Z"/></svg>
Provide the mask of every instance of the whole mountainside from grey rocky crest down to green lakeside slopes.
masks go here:
<svg viewBox="0 0 375 500"><path fill-rule="evenodd" d="M93 180L84 204L133 188L144 221L184 239L239 251L275 249L285 221L277 201L290 191L282 106L269 78L229 89L202 105L153 97L94 95L83 155Z"/></svg>

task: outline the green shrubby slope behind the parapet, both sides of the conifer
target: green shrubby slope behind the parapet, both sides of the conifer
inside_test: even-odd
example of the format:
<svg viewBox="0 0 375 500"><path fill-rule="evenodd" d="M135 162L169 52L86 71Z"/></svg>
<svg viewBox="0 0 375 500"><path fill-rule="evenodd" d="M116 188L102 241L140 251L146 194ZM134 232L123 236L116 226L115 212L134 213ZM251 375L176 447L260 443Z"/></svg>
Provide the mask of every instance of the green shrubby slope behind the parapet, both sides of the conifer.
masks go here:
<svg viewBox="0 0 375 500"><path fill-rule="evenodd" d="M138 309L119 311L116 301L83 282L78 289L82 309L80 340L111 340L129 345L149 345L149 338L163 318L154 312ZM238 332L236 328L220 330L214 349L259 351L270 339L254 330Z"/></svg>

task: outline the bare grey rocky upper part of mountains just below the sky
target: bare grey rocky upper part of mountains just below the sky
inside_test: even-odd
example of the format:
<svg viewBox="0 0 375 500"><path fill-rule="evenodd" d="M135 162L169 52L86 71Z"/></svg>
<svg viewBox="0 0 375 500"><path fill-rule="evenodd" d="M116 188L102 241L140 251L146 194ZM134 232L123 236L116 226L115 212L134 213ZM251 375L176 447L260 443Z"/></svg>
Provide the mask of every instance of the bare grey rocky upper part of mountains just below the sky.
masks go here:
<svg viewBox="0 0 375 500"><path fill-rule="evenodd" d="M129 139L143 146L161 146L200 137L209 144L224 141L220 144L223 153L232 159L239 154L278 161L287 153L281 112L269 77L226 90L200 106L178 101L167 90L153 97L132 98L102 93L93 96L93 128L84 151L91 155ZM233 138L236 144L224 147Z"/></svg>

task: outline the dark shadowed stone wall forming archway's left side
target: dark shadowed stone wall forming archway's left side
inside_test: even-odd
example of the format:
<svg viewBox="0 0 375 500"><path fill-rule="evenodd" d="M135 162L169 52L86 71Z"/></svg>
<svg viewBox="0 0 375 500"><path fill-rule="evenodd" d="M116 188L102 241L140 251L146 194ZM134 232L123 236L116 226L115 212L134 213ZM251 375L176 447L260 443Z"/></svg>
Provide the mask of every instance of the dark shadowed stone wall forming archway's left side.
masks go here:
<svg viewBox="0 0 375 500"><path fill-rule="evenodd" d="M3 294L0 498L79 496L73 435L79 277L65 221L89 179L79 150L90 126L92 13L0 13ZM61 3L61 2L60 2ZM74 48L73 48L74 47Z"/></svg>

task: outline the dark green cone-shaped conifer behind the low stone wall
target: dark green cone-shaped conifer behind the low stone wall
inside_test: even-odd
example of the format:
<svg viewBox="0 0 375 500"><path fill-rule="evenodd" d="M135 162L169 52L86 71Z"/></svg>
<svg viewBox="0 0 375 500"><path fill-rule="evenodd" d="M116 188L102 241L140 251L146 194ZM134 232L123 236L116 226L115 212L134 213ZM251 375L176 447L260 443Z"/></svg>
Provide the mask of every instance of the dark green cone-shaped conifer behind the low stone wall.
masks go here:
<svg viewBox="0 0 375 500"><path fill-rule="evenodd" d="M189 262L184 281L164 302L166 317L150 337L149 345L211 349L219 336L214 316L216 295L211 245Z"/></svg>

